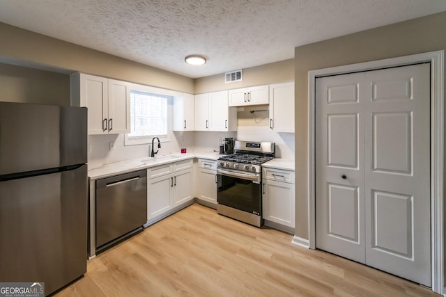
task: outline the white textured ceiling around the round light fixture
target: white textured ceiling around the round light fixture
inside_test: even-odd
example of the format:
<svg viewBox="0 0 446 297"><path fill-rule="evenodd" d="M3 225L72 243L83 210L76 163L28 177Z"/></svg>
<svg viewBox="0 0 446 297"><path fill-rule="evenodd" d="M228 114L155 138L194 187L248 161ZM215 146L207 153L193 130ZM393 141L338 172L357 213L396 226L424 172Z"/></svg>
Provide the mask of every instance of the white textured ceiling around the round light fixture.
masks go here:
<svg viewBox="0 0 446 297"><path fill-rule="evenodd" d="M197 78L445 10L445 0L0 0L0 22ZM208 63L186 65L189 54Z"/></svg>

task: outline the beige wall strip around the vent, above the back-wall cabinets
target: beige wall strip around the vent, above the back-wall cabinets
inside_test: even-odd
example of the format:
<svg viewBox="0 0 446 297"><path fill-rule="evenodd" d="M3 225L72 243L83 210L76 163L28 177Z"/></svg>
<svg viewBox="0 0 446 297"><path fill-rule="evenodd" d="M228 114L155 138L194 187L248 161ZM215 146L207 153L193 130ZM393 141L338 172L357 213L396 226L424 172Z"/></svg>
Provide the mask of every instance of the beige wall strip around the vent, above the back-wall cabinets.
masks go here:
<svg viewBox="0 0 446 297"><path fill-rule="evenodd" d="M243 69L243 81L224 83L224 73L195 79L195 94L294 80L294 59Z"/></svg>

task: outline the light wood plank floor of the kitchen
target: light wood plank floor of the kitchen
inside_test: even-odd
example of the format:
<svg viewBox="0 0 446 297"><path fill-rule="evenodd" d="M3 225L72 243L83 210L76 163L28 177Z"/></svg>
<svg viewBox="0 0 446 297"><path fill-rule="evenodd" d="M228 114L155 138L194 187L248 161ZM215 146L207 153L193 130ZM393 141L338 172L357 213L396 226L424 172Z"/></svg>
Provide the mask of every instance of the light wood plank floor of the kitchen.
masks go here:
<svg viewBox="0 0 446 297"><path fill-rule="evenodd" d="M56 296L440 296L193 204L88 263Z"/></svg>

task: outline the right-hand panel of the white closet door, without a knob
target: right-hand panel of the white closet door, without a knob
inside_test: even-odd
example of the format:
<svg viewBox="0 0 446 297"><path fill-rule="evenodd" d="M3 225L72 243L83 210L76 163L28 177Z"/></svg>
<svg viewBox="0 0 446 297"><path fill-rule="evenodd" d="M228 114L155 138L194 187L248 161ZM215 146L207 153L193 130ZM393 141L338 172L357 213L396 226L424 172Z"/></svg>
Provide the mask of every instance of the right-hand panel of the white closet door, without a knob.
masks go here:
<svg viewBox="0 0 446 297"><path fill-rule="evenodd" d="M431 287L430 65L368 74L366 264Z"/></svg>

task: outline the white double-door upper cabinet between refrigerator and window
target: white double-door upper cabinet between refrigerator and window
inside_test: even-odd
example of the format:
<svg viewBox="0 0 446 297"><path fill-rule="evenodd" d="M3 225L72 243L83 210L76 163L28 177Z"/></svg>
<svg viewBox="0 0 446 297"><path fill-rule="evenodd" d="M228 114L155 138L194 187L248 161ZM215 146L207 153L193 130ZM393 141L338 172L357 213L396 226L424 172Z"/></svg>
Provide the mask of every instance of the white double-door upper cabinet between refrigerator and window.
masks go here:
<svg viewBox="0 0 446 297"><path fill-rule="evenodd" d="M72 103L89 109L89 134L130 133L130 83L79 73L70 79Z"/></svg>

